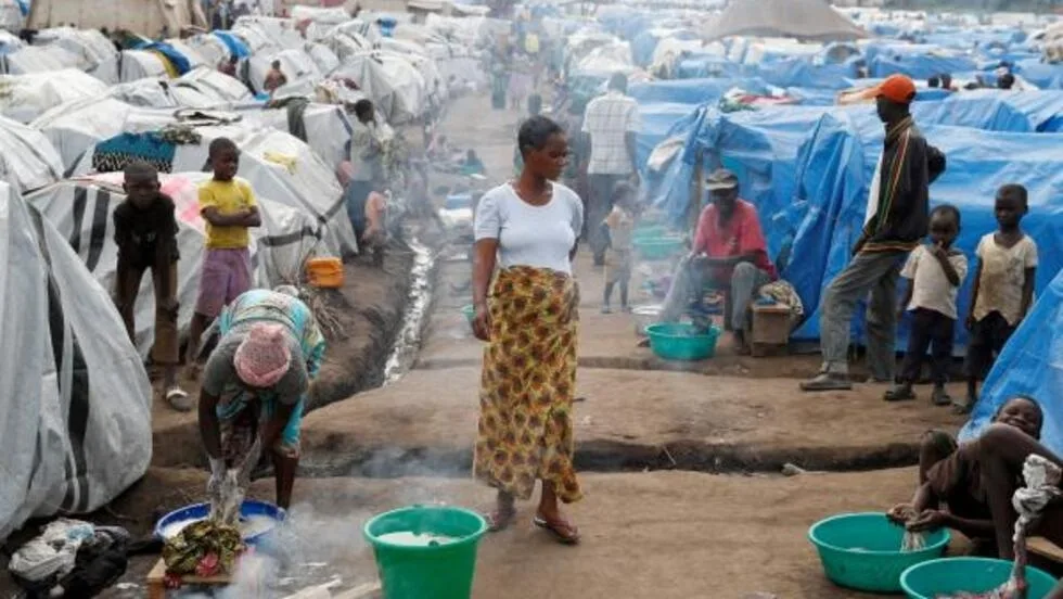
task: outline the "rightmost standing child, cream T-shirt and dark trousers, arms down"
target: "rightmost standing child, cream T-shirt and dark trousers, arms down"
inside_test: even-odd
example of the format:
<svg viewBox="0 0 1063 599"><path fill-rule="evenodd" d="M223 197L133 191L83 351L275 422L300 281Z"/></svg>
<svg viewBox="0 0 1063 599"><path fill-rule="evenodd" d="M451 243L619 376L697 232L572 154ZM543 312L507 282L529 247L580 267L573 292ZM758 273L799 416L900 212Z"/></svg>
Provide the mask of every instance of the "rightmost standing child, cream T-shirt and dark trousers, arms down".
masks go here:
<svg viewBox="0 0 1063 599"><path fill-rule="evenodd" d="M985 379L996 356L1026 317L1034 302L1037 244L1020 228L1029 209L1026 188L1007 184L997 191L994 212L996 232L978 242L977 275L971 290L971 331L968 344L968 396L957 412L968 413L978 398L978 381Z"/></svg>

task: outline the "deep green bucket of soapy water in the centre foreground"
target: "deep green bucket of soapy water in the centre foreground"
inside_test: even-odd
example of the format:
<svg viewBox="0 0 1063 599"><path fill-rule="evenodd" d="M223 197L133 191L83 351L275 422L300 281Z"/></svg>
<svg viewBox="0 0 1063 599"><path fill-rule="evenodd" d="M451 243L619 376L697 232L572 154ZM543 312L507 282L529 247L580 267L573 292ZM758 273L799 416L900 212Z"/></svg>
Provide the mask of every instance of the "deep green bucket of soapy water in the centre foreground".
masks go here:
<svg viewBox="0 0 1063 599"><path fill-rule="evenodd" d="M376 515L362 530L373 546L384 599L469 599L485 532L487 522L478 513L447 506L400 508ZM389 540L393 533L448 540L411 545Z"/></svg>

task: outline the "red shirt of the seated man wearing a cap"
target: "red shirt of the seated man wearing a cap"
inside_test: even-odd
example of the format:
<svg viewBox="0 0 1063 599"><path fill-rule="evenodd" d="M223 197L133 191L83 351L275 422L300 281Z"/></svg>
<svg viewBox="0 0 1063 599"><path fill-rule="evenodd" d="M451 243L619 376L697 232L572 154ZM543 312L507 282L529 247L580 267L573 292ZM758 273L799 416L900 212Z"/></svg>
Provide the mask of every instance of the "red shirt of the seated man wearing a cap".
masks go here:
<svg viewBox="0 0 1063 599"><path fill-rule="evenodd" d="M757 208L739 200L734 205L734 215L721 225L716 206L709 204L702 211L697 219L697 231L694 233L694 254L705 254L710 258L729 258L744 254L757 255L754 266L764 270L772 279L777 277L776 267L768 259L768 244L760 230L760 218ZM730 280L734 267L720 267L713 272L717 280Z"/></svg>

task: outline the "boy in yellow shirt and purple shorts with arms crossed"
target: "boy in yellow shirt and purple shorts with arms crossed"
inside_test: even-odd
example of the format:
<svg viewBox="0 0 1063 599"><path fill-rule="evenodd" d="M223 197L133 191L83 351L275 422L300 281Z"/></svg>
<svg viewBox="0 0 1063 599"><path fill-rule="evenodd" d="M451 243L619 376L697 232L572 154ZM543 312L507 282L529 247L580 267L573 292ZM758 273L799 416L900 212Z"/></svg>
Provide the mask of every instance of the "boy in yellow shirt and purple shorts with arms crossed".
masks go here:
<svg viewBox="0 0 1063 599"><path fill-rule="evenodd" d="M200 278L200 297L195 303L189 331L188 365L197 373L200 337L221 308L251 289L249 227L262 224L255 192L247 181L236 179L240 149L229 138L210 142L210 166L214 178L200 186L200 214L206 220L206 255Z"/></svg>

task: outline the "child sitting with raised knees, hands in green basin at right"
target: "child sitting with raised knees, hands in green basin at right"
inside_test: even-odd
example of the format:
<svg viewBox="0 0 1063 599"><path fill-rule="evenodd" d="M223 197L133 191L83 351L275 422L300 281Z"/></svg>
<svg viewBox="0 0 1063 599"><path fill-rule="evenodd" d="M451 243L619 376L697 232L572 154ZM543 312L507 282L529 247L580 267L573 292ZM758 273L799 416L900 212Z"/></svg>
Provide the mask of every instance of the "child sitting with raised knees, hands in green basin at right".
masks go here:
<svg viewBox="0 0 1063 599"><path fill-rule="evenodd" d="M1000 407L992 421L996 424L990 426L989 431L1001 425L1010 429L1003 434L1013 439L1009 442L1011 445L1036 446L1051 456L1037 443L1040 439L1043 413L1033 398L1012 397ZM979 546L979 552L984 552L987 546L992 546L995 537L999 538L996 536L995 528L999 510L994 509L992 498L995 495L1004 494L1010 502L1012 494L1020 484L1017 477L1022 474L1021 462L1032 451L1027 451L1019 460L1017 471L1013 472L1010 488L997 488L1000 482L986 476L988 472L985 460L987 457L997 459L995 453L989 455L986 451L999 449L996 442L1001 433L990 435L989 431L982 437L959 446L948 433L928 431L920 444L920 486L910 504L896 506L886 515L897 524L907 525L912 532L933 531L943 526L953 528L975 541ZM1014 439L1027 439L1028 443ZM1059 461L1058 458L1052 459ZM909 522L905 514L912 511L919 515ZM1014 518L1012 513L1011 525L1014 525ZM990 555L999 551L1001 557L1006 557L1006 552L1007 556L1011 556L1011 543L1007 540L1010 538L1010 532L1004 538L1006 541L996 545L996 549L989 551Z"/></svg>

